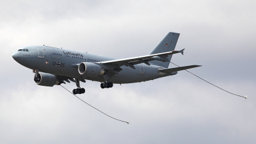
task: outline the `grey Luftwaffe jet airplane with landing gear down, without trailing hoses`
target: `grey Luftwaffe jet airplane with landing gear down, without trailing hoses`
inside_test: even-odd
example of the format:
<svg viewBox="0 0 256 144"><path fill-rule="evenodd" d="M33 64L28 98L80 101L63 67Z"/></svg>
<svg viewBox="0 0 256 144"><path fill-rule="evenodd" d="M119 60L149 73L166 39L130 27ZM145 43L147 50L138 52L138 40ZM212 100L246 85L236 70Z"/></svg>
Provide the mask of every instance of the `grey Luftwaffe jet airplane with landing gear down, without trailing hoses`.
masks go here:
<svg viewBox="0 0 256 144"><path fill-rule="evenodd" d="M168 68L173 54L184 54L184 49L175 51L179 33L168 33L163 40L145 56L115 59L84 52L49 47L28 46L12 54L15 61L35 73L34 81L40 86L76 83L74 95L84 93L80 81L100 82L100 88L112 88L113 84L140 83L173 76L180 70L200 67Z"/></svg>

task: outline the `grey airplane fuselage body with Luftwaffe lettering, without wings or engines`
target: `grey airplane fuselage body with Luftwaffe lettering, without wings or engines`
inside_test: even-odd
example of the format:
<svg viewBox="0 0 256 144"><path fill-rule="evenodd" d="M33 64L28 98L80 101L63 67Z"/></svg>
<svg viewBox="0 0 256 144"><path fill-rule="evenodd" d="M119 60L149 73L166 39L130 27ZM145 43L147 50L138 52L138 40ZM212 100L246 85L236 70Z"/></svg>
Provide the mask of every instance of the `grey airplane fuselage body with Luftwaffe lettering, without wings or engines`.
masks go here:
<svg viewBox="0 0 256 144"><path fill-rule="evenodd" d="M25 51L24 51L25 49ZM26 49L28 51L26 51ZM22 51L13 53L15 61L28 67L32 70L39 70L49 74L58 76L73 77L76 79L88 79L91 81L99 81L104 83L103 76L84 76L79 74L77 65L82 62L97 63L97 65L103 65L100 61L115 60L104 56L95 54L88 54L84 52L70 51L66 49L58 49L47 46L29 46L22 48ZM166 63L169 63L168 61ZM114 74L109 77L109 81L112 83L138 83L142 81L149 81L164 76L172 76L177 72L163 73L159 72L159 68L163 68L157 65L146 65L140 63L134 65L135 69L127 66L122 66L122 70L118 74Z"/></svg>

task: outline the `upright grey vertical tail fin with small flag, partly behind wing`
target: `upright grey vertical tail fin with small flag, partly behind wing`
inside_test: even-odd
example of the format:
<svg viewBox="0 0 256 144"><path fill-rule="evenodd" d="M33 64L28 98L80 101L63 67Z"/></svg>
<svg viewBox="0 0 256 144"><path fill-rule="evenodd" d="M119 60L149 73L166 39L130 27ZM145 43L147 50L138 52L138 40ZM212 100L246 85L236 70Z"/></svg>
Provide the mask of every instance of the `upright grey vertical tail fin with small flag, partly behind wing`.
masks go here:
<svg viewBox="0 0 256 144"><path fill-rule="evenodd" d="M168 52L168 51L174 51L175 46L177 44L178 38L179 38L179 33L168 33L164 39L155 47L155 49L153 49L152 52L150 52L150 54L158 54L161 52ZM169 55L168 60L170 61L172 59L172 55ZM150 61L150 63L152 63L153 65L159 65L161 67L165 67L168 68L169 66L169 62L163 62L163 61Z"/></svg>

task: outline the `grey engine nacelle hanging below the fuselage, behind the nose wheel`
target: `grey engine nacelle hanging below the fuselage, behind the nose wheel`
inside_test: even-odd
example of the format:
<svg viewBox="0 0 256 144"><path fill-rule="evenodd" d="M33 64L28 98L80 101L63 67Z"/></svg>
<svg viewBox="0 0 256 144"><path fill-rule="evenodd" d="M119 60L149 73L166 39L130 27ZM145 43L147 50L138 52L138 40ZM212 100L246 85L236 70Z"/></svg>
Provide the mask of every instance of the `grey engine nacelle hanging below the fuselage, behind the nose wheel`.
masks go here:
<svg viewBox="0 0 256 144"><path fill-rule="evenodd" d="M40 86L54 86L61 84L60 79L56 76L44 72L39 72L37 75L35 74L34 81Z"/></svg>

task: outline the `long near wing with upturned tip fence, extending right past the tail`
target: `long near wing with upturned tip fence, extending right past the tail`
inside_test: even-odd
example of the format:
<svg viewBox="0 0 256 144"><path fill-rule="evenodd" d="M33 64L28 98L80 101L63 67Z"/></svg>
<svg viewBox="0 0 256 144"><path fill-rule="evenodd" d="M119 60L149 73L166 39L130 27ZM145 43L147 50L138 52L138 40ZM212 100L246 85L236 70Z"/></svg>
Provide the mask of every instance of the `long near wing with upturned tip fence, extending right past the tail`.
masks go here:
<svg viewBox="0 0 256 144"><path fill-rule="evenodd" d="M183 51L184 51L184 49L182 49L180 51L169 51L169 52L162 52L162 53L158 53L158 54L149 54L147 56L138 56L138 57L134 57L134 58L124 58L124 59L118 59L118 60L101 61L101 62L97 62L97 63L116 65L118 67L125 65L127 67L131 67L131 68L135 69L134 65L137 65L139 63L145 63L147 65L150 65L150 63L148 63L148 61L156 60L156 56L157 56L157 58L164 61L164 58L166 58L168 55L171 55L171 54L181 53L183 55Z"/></svg>

